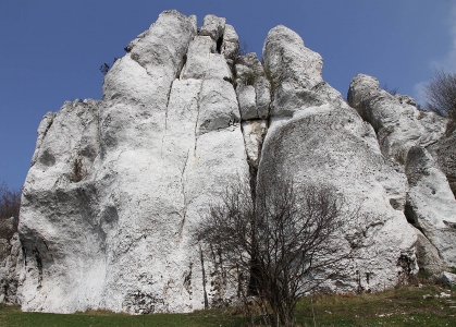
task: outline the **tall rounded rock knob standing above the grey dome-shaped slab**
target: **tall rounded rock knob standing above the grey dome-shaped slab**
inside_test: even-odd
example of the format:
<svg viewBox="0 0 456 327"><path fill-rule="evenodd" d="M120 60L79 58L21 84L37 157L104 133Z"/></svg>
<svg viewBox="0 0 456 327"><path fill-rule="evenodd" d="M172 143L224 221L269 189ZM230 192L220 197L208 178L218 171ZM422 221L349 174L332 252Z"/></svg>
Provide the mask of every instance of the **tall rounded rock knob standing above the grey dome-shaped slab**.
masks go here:
<svg viewBox="0 0 456 327"><path fill-rule="evenodd" d="M342 95L323 82L320 55L306 48L293 31L278 26L269 32L263 61L273 95L270 116L292 117L308 107L325 104L348 107Z"/></svg>

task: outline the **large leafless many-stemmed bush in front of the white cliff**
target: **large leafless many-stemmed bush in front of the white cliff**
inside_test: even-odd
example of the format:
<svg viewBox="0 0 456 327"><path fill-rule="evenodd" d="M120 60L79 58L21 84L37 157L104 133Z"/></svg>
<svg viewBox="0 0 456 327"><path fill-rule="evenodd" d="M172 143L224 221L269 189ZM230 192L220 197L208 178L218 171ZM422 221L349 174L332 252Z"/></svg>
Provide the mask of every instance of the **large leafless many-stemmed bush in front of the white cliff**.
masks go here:
<svg viewBox="0 0 456 327"><path fill-rule="evenodd" d="M294 326L299 298L340 274L359 249L362 233L341 233L356 216L330 187L271 177L257 184L255 198L242 183L229 187L198 239L218 250L225 274L246 303L256 301L266 324Z"/></svg>

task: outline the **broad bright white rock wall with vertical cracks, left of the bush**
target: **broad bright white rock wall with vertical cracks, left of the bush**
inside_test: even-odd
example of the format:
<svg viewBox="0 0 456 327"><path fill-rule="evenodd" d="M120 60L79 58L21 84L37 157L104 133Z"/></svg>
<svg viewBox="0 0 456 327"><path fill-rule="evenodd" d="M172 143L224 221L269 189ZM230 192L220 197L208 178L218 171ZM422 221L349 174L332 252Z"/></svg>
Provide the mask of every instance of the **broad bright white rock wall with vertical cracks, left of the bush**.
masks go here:
<svg viewBox="0 0 456 327"><path fill-rule="evenodd" d="M164 12L108 72L102 104L41 123L21 208L24 311L188 312L235 295L192 239L214 194L248 173L233 86L176 80L194 22Z"/></svg>

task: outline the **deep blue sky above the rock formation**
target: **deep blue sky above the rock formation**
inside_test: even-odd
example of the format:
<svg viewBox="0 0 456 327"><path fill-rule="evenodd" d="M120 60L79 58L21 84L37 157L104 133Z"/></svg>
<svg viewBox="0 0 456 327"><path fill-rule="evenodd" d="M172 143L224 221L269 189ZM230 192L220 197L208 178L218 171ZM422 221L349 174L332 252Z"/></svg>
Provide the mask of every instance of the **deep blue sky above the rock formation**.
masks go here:
<svg viewBox="0 0 456 327"><path fill-rule="evenodd" d="M344 97L365 73L420 102L434 69L456 72L456 0L0 0L0 182L23 185L42 116L101 99L99 66L169 9L226 17L259 58L272 27L292 28Z"/></svg>

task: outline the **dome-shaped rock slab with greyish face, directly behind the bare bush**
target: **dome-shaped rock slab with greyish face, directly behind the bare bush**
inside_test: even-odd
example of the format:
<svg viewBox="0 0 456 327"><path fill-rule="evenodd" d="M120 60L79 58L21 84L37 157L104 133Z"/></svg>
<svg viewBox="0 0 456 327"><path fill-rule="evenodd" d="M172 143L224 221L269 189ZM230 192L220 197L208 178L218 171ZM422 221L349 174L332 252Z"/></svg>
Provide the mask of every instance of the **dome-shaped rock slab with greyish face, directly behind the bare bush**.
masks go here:
<svg viewBox="0 0 456 327"><path fill-rule="evenodd" d="M400 208L393 206L405 197L405 177L385 162L372 138L372 129L356 112L325 105L307 108L293 119L272 120L264 140L259 179L268 179L262 170L274 165L297 183L329 184L352 208L360 206L360 225L371 245L347 265L344 277L332 281L333 291L356 289L356 270L371 276L359 286L372 291L417 271L416 234ZM400 268L402 261L408 263L406 268Z"/></svg>

